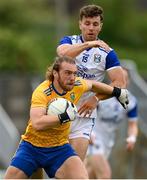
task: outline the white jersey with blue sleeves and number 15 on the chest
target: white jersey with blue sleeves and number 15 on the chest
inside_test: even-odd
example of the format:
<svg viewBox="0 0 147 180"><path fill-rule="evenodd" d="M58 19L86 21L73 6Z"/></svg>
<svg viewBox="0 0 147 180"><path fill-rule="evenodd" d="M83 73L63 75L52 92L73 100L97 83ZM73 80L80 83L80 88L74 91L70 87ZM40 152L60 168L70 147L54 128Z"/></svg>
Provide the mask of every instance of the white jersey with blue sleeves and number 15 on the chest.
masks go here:
<svg viewBox="0 0 147 180"><path fill-rule="evenodd" d="M81 35L65 36L60 40L61 44L82 44L84 41ZM76 56L76 64L78 67L78 76L84 79L91 79L96 81L103 81L106 71L120 66L120 62L113 49L105 51L103 48L94 47L82 51ZM81 102L88 97L93 96L94 93L87 92L80 99L78 106ZM91 118L95 118L96 111L94 110Z"/></svg>

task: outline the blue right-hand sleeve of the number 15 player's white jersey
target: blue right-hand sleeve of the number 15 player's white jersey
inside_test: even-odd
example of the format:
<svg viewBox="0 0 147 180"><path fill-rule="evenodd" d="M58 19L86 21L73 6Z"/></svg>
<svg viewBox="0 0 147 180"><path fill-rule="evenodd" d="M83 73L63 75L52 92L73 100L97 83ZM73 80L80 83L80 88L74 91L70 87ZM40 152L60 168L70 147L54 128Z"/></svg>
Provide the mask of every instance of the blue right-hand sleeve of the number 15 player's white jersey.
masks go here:
<svg viewBox="0 0 147 180"><path fill-rule="evenodd" d="M117 54L114 50L110 51L106 57L106 66L105 69L108 70L113 67L120 66L120 61L117 57Z"/></svg>

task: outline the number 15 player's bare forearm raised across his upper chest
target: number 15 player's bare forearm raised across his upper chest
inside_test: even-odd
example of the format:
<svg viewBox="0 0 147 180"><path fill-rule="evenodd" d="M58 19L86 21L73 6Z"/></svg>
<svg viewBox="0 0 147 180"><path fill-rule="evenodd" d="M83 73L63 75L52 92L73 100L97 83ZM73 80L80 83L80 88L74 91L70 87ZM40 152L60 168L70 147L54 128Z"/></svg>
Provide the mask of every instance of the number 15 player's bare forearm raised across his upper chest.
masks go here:
<svg viewBox="0 0 147 180"><path fill-rule="evenodd" d="M89 48L88 42L73 45L61 45L57 48L57 54L58 56L69 56L75 58L87 48Z"/></svg>

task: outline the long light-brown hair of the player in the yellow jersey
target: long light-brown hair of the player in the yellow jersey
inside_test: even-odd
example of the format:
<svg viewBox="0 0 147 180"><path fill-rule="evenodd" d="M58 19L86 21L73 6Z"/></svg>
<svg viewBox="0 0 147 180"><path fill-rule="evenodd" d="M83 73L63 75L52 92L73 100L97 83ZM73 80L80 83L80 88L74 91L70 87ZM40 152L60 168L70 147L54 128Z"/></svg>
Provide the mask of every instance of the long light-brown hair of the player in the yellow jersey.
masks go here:
<svg viewBox="0 0 147 180"><path fill-rule="evenodd" d="M54 80L53 71L55 70L55 71L59 72L61 64L63 62L67 62L69 64L75 64L76 65L74 58L71 58L68 56L56 57L52 66L49 66L47 68L47 71L46 71L46 79L47 80L50 80L50 81Z"/></svg>

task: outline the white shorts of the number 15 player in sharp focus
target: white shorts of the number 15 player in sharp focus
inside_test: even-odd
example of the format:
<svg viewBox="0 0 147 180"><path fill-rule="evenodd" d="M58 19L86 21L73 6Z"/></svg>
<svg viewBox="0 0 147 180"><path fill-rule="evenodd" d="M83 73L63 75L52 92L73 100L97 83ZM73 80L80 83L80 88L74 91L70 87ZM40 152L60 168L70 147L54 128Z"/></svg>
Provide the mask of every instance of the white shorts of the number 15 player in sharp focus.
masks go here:
<svg viewBox="0 0 147 180"><path fill-rule="evenodd" d="M89 140L94 126L94 121L94 118L77 117L71 123L69 139L84 137Z"/></svg>

